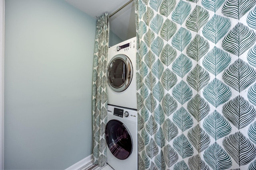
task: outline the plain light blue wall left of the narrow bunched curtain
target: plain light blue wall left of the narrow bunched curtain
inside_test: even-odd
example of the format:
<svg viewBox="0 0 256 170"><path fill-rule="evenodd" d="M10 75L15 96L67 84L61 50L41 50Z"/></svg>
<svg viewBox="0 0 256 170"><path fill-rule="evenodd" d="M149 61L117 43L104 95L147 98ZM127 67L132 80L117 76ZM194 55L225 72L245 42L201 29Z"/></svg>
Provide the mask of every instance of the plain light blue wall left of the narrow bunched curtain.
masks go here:
<svg viewBox="0 0 256 170"><path fill-rule="evenodd" d="M64 0L5 0L5 169L92 154L96 19Z"/></svg>

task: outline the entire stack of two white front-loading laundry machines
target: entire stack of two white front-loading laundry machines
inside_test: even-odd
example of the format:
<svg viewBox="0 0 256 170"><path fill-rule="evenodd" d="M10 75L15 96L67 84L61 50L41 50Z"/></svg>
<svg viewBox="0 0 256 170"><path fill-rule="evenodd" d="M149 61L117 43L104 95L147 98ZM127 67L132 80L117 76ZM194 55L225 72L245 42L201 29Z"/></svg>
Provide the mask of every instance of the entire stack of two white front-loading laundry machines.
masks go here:
<svg viewBox="0 0 256 170"><path fill-rule="evenodd" d="M136 37L108 49L107 163L138 169Z"/></svg>

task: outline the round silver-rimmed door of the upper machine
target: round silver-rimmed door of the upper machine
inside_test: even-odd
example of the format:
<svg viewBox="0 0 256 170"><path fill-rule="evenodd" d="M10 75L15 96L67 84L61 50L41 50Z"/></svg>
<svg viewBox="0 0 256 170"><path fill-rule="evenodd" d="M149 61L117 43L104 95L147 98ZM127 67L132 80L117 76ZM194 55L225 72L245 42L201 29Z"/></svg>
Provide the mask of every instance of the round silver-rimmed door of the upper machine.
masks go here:
<svg viewBox="0 0 256 170"><path fill-rule="evenodd" d="M132 81L132 62L124 54L115 55L108 64L108 84L115 92L122 92Z"/></svg>

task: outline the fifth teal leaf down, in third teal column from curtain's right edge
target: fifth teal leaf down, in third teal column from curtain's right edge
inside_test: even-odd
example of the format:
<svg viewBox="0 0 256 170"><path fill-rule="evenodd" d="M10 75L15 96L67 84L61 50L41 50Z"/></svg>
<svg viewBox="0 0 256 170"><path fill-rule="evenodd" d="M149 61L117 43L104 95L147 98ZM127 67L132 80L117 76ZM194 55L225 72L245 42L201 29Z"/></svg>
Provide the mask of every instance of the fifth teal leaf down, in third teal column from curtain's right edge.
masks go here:
<svg viewBox="0 0 256 170"><path fill-rule="evenodd" d="M181 107L176 112L174 112L172 117L173 122L182 130L182 132L186 131L193 125L193 119L191 115Z"/></svg>

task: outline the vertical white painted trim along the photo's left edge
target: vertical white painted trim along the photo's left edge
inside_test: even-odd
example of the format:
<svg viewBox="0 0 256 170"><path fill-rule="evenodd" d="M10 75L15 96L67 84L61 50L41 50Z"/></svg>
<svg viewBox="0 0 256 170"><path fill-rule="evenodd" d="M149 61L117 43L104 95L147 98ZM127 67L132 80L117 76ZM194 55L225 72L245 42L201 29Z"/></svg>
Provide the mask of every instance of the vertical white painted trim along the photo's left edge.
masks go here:
<svg viewBox="0 0 256 170"><path fill-rule="evenodd" d="M4 170L4 0L0 0L0 170Z"/></svg>

